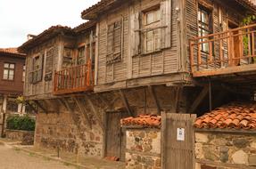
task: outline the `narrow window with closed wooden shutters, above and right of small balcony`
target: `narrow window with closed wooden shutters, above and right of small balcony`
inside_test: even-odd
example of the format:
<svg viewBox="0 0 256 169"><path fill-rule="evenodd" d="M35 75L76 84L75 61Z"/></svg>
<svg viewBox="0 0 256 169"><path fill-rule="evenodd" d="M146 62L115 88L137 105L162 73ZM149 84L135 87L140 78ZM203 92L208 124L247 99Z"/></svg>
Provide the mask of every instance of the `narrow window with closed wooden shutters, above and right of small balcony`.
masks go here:
<svg viewBox="0 0 256 169"><path fill-rule="evenodd" d="M107 64L119 62L122 50L122 20L108 25L107 32Z"/></svg>

